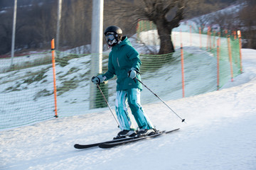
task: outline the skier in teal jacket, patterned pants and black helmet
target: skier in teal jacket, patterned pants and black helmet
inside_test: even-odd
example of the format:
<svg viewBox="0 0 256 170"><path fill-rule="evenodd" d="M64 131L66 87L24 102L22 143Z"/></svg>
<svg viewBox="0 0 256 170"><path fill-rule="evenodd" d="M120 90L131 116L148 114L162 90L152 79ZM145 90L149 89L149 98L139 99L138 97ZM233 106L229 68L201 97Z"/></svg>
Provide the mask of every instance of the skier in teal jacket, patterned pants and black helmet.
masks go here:
<svg viewBox="0 0 256 170"><path fill-rule="evenodd" d="M144 113L140 103L142 84L135 79L141 79L139 67L142 62L139 60L139 53L132 47L128 38L122 36L121 28L110 26L106 28L104 34L107 44L112 47L112 51L109 55L108 70L105 74L92 77L91 80L94 84L100 84L103 81L112 79L114 75L117 75L115 111L121 131L114 139L128 136L133 137L136 135L153 135L156 133L156 130L146 113ZM129 118L127 102L137 122L139 131L136 131Z"/></svg>

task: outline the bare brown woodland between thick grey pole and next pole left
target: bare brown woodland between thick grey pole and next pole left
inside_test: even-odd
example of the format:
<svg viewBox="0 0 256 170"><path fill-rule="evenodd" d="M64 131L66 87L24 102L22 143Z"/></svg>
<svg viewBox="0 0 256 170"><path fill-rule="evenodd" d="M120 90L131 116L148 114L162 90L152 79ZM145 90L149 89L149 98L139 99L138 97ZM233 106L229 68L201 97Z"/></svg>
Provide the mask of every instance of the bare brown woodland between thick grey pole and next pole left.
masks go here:
<svg viewBox="0 0 256 170"><path fill-rule="evenodd" d="M77 47L90 44L91 29L90 1L64 1L61 21L60 41L61 45Z"/></svg>

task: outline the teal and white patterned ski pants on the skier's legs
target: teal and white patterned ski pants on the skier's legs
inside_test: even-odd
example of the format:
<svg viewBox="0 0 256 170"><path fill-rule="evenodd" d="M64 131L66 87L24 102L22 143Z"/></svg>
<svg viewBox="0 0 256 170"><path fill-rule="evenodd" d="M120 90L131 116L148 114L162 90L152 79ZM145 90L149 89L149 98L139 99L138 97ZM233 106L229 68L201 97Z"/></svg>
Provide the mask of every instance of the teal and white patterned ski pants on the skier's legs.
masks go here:
<svg viewBox="0 0 256 170"><path fill-rule="evenodd" d="M128 89L125 91L117 91L115 101L115 111L117 113L117 120L121 130L137 129L134 127L129 117L127 103L129 104L129 108L132 111L132 115L134 116L139 129L154 128L148 116L144 113L140 103L140 90Z"/></svg>

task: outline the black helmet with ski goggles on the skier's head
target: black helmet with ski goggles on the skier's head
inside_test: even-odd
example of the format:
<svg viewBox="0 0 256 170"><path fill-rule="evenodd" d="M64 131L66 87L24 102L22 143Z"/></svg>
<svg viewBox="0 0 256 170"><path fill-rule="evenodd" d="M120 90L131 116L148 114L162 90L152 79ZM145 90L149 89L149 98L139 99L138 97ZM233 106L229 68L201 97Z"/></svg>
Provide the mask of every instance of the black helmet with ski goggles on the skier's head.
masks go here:
<svg viewBox="0 0 256 170"><path fill-rule="evenodd" d="M114 46L122 39L122 30L117 26L109 26L104 31L105 40L110 46Z"/></svg>

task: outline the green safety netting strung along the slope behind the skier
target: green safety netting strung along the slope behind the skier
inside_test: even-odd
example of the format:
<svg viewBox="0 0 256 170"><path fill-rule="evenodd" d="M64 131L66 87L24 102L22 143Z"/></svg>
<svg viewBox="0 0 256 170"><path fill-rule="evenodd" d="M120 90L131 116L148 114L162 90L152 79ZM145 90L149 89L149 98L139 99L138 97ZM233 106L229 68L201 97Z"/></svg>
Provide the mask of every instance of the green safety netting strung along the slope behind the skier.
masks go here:
<svg viewBox="0 0 256 170"><path fill-rule="evenodd" d="M144 25L142 25L142 23ZM184 28L187 28L186 30ZM190 32L190 26L173 30L171 38L176 52L147 55L159 38L154 24L139 21L137 40L132 42L141 53L144 84L164 100L182 98L181 43L183 45L185 97L215 91L242 72L240 44L235 35ZM192 29L193 30L193 29ZM220 45L217 44L220 40ZM219 52L219 53L218 53ZM218 62L219 55L219 62ZM90 109L91 55L82 52L56 52L55 77L59 116L81 115L106 108L100 91L95 92L96 110ZM107 71L108 52L102 54L102 72ZM54 118L53 65L50 51L0 59L0 129L26 125ZM219 63L219 67L218 67ZM219 78L217 74L219 72ZM219 79L219 84L217 83ZM110 106L114 106L116 78L100 85ZM158 101L150 91L142 92L142 104Z"/></svg>

